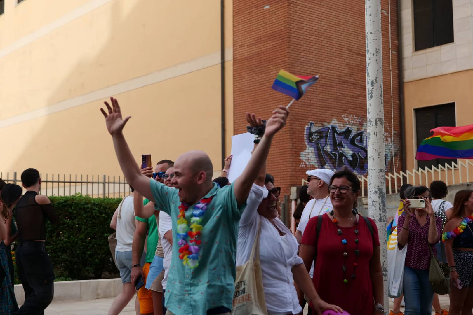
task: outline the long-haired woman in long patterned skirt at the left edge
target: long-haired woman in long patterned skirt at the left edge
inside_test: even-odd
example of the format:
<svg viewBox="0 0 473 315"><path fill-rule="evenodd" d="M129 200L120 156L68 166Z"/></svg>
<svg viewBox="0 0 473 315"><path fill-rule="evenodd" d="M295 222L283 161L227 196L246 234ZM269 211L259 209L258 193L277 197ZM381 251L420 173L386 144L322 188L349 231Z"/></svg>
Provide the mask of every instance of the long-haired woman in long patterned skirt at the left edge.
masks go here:
<svg viewBox="0 0 473 315"><path fill-rule="evenodd" d="M17 300L13 291L15 269L10 253L10 245L18 238L17 226L13 220L13 208L21 197L23 189L15 184L7 184L1 189L3 209L0 214L0 226L4 230L0 241L0 264L5 271L5 278L0 288L0 314L10 314L18 310Z"/></svg>

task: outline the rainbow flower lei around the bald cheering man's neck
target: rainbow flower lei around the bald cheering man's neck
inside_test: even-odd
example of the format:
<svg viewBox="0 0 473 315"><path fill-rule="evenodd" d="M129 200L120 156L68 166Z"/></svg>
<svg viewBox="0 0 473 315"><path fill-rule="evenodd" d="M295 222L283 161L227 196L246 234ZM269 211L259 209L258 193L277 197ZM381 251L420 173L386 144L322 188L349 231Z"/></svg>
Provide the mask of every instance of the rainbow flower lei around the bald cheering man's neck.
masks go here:
<svg viewBox="0 0 473 315"><path fill-rule="evenodd" d="M195 268L199 265L199 245L201 240L197 239L201 235L202 217L205 214L207 205L212 201L210 198L202 198L198 204L194 206L192 211L191 226L185 219L185 212L189 209L189 205L182 203L179 206L179 214L177 215L177 244L179 245L179 258L183 260L183 264L190 268ZM189 240L187 240L189 238Z"/></svg>

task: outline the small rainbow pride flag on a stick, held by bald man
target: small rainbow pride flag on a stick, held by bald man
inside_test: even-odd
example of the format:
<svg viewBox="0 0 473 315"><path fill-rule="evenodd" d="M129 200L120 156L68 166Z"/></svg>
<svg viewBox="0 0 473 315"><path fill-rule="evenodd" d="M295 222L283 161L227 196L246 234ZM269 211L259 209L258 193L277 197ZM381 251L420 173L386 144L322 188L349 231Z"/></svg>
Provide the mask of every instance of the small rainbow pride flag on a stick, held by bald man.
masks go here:
<svg viewBox="0 0 473 315"><path fill-rule="evenodd" d="M318 79L319 76L295 76L287 71L280 70L272 84L272 89L287 94L298 101L307 92L309 86L317 82Z"/></svg>

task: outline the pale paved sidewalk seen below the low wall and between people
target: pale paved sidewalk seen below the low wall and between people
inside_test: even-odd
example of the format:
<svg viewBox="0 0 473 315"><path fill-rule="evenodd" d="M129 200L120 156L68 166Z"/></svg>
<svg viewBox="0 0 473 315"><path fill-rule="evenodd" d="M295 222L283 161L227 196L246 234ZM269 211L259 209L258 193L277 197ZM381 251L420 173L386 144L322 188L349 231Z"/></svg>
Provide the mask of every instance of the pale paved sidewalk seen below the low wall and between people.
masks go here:
<svg viewBox="0 0 473 315"><path fill-rule="evenodd" d="M103 315L108 313L108 309L112 305L113 298L99 298L95 300L84 301L67 301L67 302L53 302L46 308L44 315ZM448 308L448 295L440 296L440 305L442 308ZM390 309L393 308L393 303L390 301ZM401 307L401 312L404 307ZM128 306L126 306L122 313L123 315L135 315L135 298L132 298ZM304 310L304 314L307 314ZM386 313L389 314L389 311ZM435 312L432 312L435 315Z"/></svg>

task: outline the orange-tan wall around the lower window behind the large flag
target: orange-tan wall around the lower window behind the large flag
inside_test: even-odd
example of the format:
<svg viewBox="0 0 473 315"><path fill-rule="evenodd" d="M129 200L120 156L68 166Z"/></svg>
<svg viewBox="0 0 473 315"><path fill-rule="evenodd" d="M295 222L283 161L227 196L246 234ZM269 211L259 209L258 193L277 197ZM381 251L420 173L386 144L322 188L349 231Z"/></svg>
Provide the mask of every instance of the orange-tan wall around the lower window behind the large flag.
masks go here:
<svg viewBox="0 0 473 315"><path fill-rule="evenodd" d="M415 153L419 145L415 139L414 109L455 102L456 126L470 125L473 123L472 93L473 70L404 83L407 170L416 167Z"/></svg>

